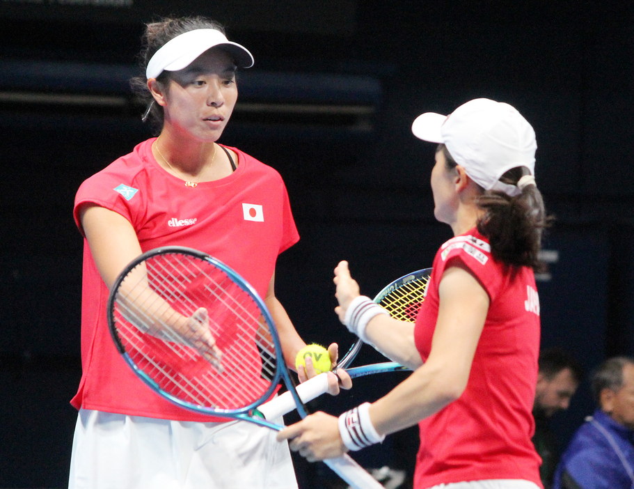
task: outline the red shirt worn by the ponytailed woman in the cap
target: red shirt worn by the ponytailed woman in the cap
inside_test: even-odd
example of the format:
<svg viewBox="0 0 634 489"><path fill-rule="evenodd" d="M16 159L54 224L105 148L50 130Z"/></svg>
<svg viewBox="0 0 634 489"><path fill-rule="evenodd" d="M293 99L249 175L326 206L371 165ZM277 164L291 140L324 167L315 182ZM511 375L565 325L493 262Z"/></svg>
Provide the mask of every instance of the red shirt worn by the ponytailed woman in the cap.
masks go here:
<svg viewBox="0 0 634 489"><path fill-rule="evenodd" d="M420 421L417 489L441 483L525 479L541 487L534 450L532 405L539 355L539 298L534 274L513 274L495 261L487 238L474 228L445 242L415 325L423 360L438 318L438 285L449 261L459 260L489 294L484 329L467 387L457 401Z"/></svg>

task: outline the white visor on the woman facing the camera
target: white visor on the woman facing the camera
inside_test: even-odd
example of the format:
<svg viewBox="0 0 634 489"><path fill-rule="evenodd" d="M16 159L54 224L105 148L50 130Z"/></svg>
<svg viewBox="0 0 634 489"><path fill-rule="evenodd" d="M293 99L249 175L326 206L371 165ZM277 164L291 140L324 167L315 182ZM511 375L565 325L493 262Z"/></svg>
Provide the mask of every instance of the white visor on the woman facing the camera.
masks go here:
<svg viewBox="0 0 634 489"><path fill-rule="evenodd" d="M221 31L216 31L216 29L196 29L182 33L161 46L150 59L145 76L148 79L156 78L164 70L178 71L187 68L207 49L216 46L222 47L231 54L238 68L251 68L253 66L253 56L246 47L231 42Z"/></svg>

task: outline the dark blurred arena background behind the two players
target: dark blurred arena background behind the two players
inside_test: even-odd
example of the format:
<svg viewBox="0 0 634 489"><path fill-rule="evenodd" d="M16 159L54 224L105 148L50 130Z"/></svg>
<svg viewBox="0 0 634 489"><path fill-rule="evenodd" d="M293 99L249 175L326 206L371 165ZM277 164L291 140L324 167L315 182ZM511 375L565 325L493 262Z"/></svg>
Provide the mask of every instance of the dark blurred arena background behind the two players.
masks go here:
<svg viewBox="0 0 634 489"><path fill-rule="evenodd" d="M307 341L350 341L333 313L338 261L367 295L431 265L451 234L432 213L434 145L411 122L488 97L534 126L557 217L538 283L542 346L588 371L634 354L631 1L0 0L0 487L68 482L81 375L74 193L151 135L127 80L143 22L170 14L209 15L255 56L221 142L285 179L301 241L280 256L277 293ZM360 380L312 408L338 413L394 382ZM562 444L592 409L584 382L553 420ZM358 458L411 469L415 437ZM332 481L322 466L297 469L304 488Z"/></svg>

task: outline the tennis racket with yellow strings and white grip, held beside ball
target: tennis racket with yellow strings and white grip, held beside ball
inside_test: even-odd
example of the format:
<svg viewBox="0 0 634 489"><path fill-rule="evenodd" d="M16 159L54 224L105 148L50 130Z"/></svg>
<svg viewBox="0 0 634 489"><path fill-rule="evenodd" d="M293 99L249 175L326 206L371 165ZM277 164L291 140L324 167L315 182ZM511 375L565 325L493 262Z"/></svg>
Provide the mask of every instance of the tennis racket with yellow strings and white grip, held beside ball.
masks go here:
<svg viewBox="0 0 634 489"><path fill-rule="evenodd" d="M418 315L420 304L425 300L425 288L429 282L431 268L417 270L396 279L391 284L383 287L383 290L374 297L374 302L383 306L390 316L399 320L409 321L413 323ZM351 378L363 377L374 373L385 373L409 370L406 366L402 366L397 362L381 362L354 368L347 368L356 358L358 352L363 346L363 341L358 339L342 357L335 367L346 368ZM303 403L308 403L317 396L321 396L328 391L327 373L320 373L310 380L301 383L296 387ZM290 392L285 392L275 399L263 404L258 411L266 419L275 419L277 417L291 412L295 409L295 401Z"/></svg>

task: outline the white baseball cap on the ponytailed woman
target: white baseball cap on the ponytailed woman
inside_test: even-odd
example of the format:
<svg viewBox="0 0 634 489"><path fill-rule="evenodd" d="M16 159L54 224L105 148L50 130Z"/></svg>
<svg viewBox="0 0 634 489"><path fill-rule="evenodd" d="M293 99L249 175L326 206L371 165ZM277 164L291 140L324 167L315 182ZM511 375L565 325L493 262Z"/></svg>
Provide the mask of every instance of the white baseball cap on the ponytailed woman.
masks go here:
<svg viewBox="0 0 634 489"><path fill-rule="evenodd" d="M423 141L445 144L455 162L485 190L514 196L521 189L500 182L500 177L516 166L535 174L535 132L509 104L477 98L449 116L427 112L415 119L412 132Z"/></svg>

